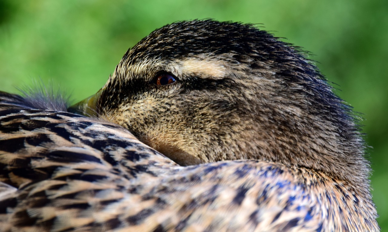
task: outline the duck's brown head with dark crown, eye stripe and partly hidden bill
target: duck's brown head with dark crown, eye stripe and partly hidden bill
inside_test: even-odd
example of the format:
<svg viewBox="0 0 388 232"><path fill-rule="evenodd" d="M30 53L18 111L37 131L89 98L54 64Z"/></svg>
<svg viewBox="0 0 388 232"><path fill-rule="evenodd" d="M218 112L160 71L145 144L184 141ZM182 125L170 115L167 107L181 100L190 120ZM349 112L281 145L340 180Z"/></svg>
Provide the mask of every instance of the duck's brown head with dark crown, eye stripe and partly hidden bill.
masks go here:
<svg viewBox="0 0 388 232"><path fill-rule="evenodd" d="M303 52L251 24L157 29L71 110L127 128L180 165L256 159L369 186L349 107Z"/></svg>

